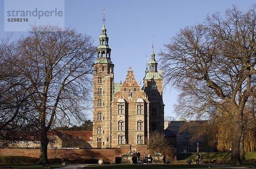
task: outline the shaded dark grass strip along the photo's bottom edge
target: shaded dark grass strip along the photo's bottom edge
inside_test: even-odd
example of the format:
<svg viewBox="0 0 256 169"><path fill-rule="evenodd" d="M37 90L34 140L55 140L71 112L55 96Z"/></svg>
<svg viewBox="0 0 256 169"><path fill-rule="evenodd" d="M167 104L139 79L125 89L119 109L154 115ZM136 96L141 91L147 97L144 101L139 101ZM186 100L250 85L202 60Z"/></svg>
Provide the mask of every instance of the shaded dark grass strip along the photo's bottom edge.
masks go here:
<svg viewBox="0 0 256 169"><path fill-rule="evenodd" d="M90 165L84 169L209 169L207 166L196 164L105 164ZM222 169L220 167L211 167L211 169Z"/></svg>

